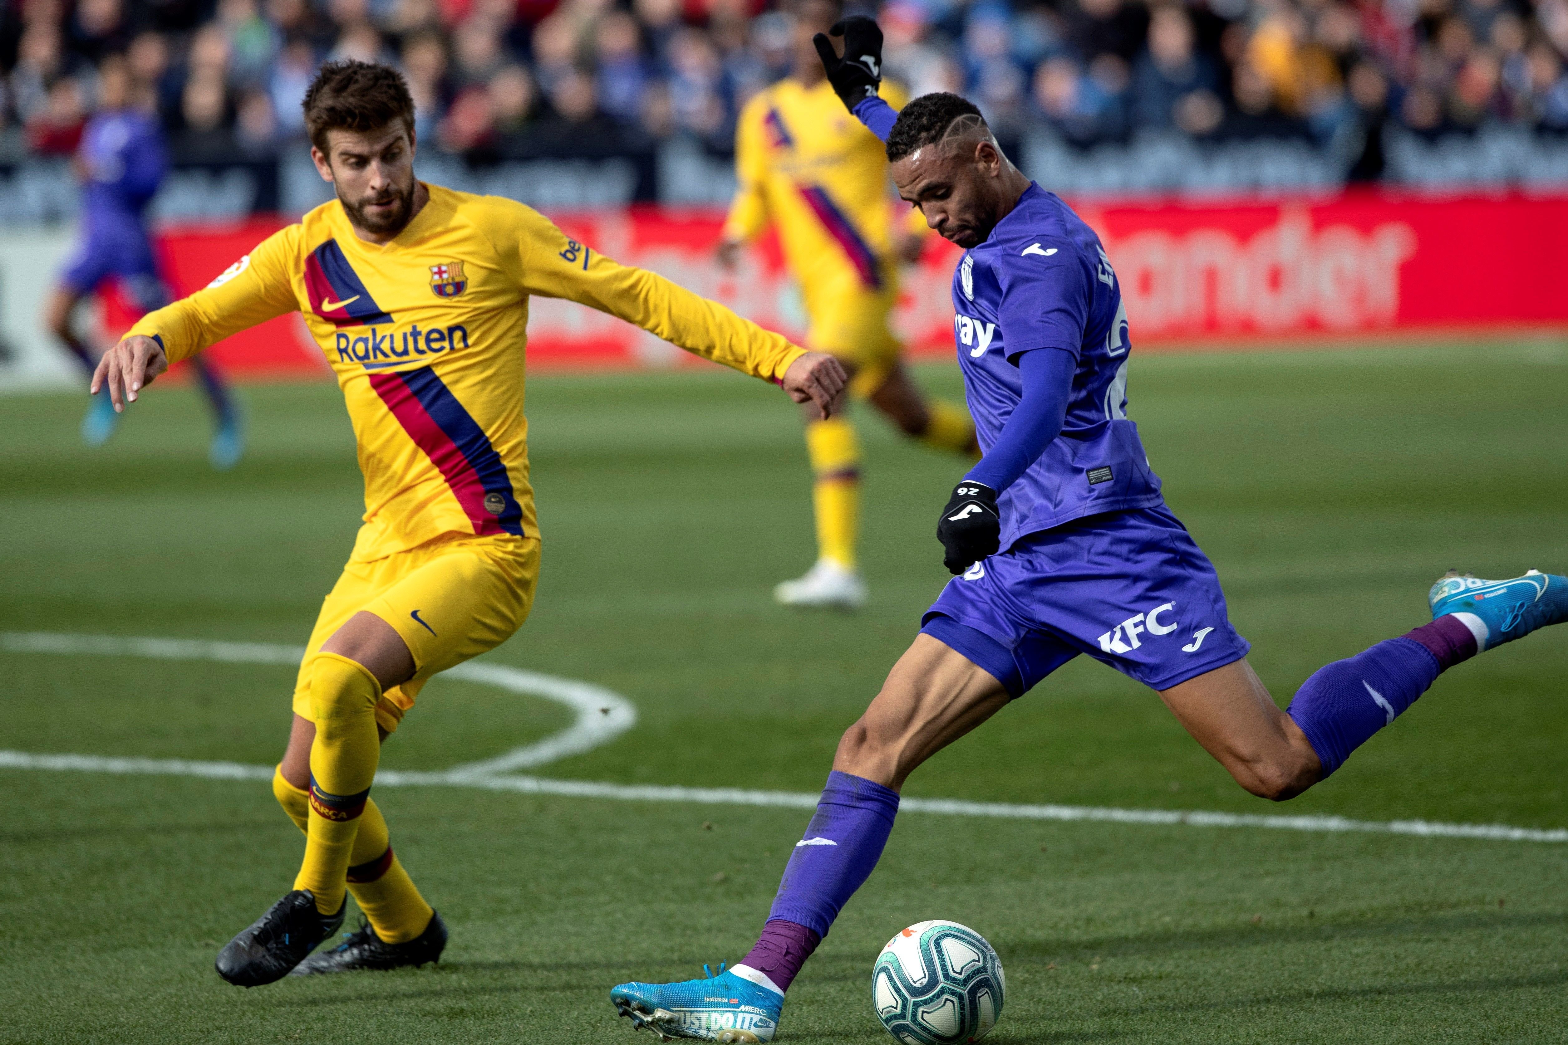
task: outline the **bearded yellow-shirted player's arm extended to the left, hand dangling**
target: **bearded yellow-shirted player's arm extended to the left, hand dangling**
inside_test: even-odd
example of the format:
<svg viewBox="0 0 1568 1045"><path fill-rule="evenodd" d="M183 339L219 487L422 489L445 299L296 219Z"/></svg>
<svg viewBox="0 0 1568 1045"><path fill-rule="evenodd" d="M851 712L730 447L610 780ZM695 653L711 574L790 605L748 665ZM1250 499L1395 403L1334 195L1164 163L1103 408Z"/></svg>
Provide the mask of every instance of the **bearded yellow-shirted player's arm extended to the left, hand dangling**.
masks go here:
<svg viewBox="0 0 1568 1045"><path fill-rule="evenodd" d="M114 409L124 410L171 362L298 309L287 265L298 233L298 226L273 233L204 290L136 320L124 340L103 353L91 393L108 387Z"/></svg>

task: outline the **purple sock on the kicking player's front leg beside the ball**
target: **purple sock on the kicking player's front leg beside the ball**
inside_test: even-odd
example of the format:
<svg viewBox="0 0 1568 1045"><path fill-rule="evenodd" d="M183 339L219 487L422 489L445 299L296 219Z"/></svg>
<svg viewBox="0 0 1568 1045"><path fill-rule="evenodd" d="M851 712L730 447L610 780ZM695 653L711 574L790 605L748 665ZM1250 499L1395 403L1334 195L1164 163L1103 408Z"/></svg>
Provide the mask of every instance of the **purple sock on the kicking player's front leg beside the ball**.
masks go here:
<svg viewBox="0 0 1568 1045"><path fill-rule="evenodd" d="M837 769L829 772L817 815L784 868L762 938L740 965L765 973L786 990L877 866L897 815L898 793L892 788Z"/></svg>

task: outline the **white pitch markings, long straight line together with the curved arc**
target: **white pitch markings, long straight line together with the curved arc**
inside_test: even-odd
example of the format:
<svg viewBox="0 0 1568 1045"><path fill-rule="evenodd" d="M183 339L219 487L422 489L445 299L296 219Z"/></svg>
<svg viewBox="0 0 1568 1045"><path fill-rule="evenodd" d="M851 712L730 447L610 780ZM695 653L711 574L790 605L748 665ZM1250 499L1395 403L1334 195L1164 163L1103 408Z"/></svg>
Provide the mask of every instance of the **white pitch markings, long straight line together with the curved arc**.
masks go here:
<svg viewBox="0 0 1568 1045"><path fill-rule="evenodd" d="M107 656L155 656L160 660L213 660L246 664L295 664L303 650L290 645L252 642L202 642L194 639L124 639L91 635L0 633L0 650L17 653L91 653ZM561 797L596 797L622 802L691 802L699 805L764 805L779 808L815 808L817 794L803 791L748 791L740 788L682 788L665 785L601 783L594 780L552 780L546 777L499 776L505 769L543 765L566 754L579 754L610 736L618 736L637 722L637 711L624 697L590 683L539 675L500 664L469 663L453 667L448 675L491 683L514 692L543 696L579 711L577 725L538 744L514 749L499 758L469 763L442 772L408 772L383 769L376 786L461 786L516 794L549 794ZM602 721L602 722L599 722ZM613 735L593 733L615 725ZM579 732L580 730L580 732ZM590 733L601 736L593 743ZM549 747L552 746L554 747ZM586 746L579 746L586 744ZM549 758L544 752L552 754ZM533 752L539 752L535 755ZM180 758L108 758L102 755L42 755L22 750L0 750L0 769L34 769L56 772L108 772L130 776L202 777L209 780L271 780L271 766L246 766L237 761L187 761ZM1322 833L1414 835L1421 838L1474 838L1483 841L1568 843L1568 829L1510 827L1507 824L1441 824L1424 819L1369 821L1345 816L1269 816L1258 813L1214 813L1203 810L1135 810L1096 805L1016 805L1010 802L964 802L958 799L906 797L900 804L906 813L941 816L982 816L999 819L1090 821L1110 824L1145 824L1160 827L1265 827L1273 830L1305 830Z"/></svg>

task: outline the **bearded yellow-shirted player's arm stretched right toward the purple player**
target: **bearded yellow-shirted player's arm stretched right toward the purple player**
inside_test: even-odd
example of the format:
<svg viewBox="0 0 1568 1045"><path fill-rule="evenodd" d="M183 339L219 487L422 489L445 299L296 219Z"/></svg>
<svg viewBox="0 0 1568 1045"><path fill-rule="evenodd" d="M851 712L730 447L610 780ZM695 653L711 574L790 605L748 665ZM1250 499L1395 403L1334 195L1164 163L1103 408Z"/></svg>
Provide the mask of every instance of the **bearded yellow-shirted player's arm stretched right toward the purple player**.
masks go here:
<svg viewBox="0 0 1568 1045"><path fill-rule="evenodd" d="M848 378L826 353L808 353L782 334L743 320L717 301L679 287L657 273L619 265L577 243L547 218L511 207L511 249L497 243L503 263L517 266L524 293L566 298L635 323L695 356L724 363L753 378L773 381L797 403L829 409ZM500 230L491 232L492 241Z"/></svg>

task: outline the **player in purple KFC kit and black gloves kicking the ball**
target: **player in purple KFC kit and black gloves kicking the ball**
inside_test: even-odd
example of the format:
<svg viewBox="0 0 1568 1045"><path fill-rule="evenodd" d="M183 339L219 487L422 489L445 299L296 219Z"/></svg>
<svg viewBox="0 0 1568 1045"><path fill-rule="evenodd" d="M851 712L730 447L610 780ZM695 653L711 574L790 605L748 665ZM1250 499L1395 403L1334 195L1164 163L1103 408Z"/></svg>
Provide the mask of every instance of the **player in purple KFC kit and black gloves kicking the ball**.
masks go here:
<svg viewBox="0 0 1568 1045"><path fill-rule="evenodd" d="M1443 671L1568 616L1568 578L1449 573L1430 624L1319 669L1281 711L1127 420L1132 345L1099 238L1008 163L964 99L928 94L895 118L877 99L875 22L834 34L844 58L817 41L839 97L887 143L900 194L967 249L955 334L985 456L938 522L956 577L839 741L757 945L717 978L610 992L633 1025L671 1037L770 1040L790 981L877 865L908 776L1080 653L1156 689L1237 783L1283 801Z"/></svg>

